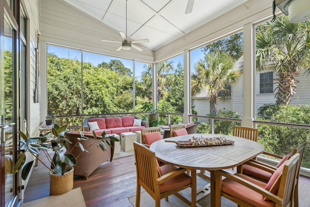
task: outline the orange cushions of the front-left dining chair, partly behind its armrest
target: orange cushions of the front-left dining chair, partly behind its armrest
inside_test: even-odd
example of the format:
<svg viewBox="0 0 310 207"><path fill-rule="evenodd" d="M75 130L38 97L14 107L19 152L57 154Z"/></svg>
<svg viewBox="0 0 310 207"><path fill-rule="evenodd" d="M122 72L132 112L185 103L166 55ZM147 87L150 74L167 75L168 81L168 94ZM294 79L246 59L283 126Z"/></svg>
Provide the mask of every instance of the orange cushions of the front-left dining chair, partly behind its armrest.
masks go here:
<svg viewBox="0 0 310 207"><path fill-rule="evenodd" d="M176 170L178 168L172 166L172 165L163 165L160 167L162 175L166 175L167 173ZM175 177L172 177L171 179L165 181L164 183L159 185L159 191L160 193L170 191L172 189L176 189L182 186L186 186L191 183L191 178L186 173L182 173L180 175L177 175Z"/></svg>

